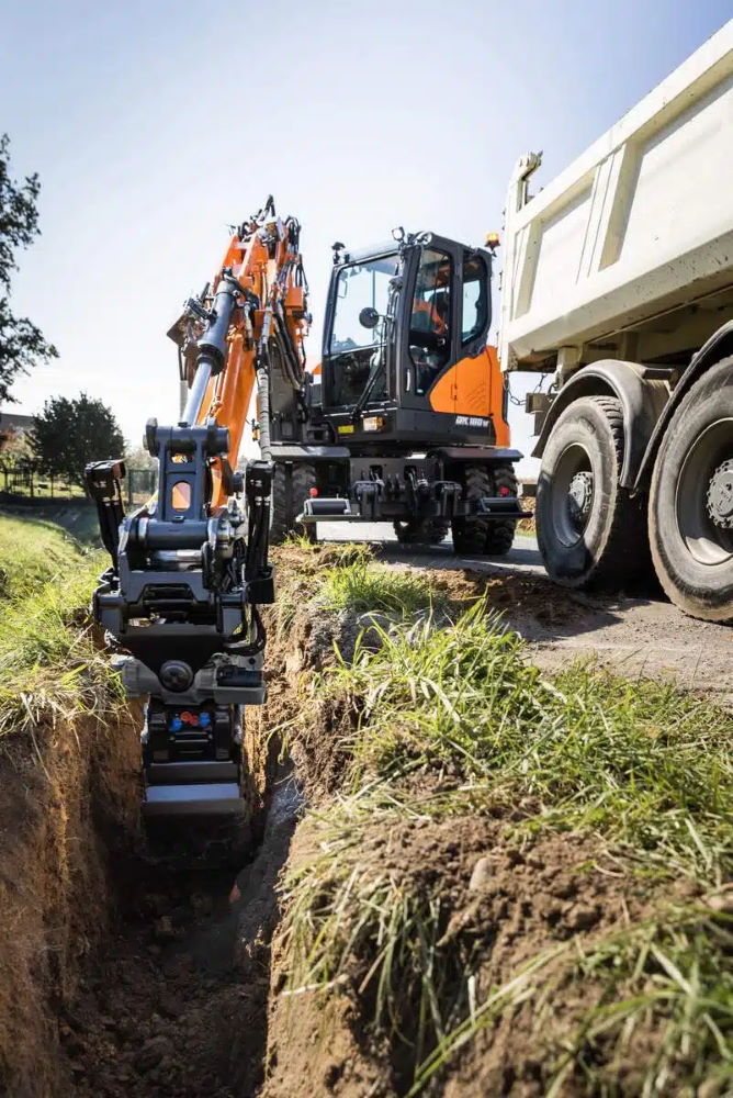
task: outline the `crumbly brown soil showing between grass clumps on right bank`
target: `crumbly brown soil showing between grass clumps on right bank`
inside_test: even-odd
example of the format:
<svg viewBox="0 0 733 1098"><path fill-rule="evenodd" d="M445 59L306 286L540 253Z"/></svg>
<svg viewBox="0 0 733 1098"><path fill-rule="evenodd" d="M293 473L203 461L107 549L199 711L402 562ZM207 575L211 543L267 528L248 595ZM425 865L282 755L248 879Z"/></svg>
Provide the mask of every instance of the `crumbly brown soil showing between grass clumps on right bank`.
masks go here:
<svg viewBox="0 0 733 1098"><path fill-rule="evenodd" d="M643 917L653 907L653 890L640 889L635 878L620 876L598 843L571 834L520 844L512 837L512 822L506 817L474 816L438 822L402 820L386 834L375 828L360 848L360 874L391 873L406 893L440 897L441 946L444 952L475 959L477 1001L539 953L564 943L570 948L571 942L573 950L580 951L584 944ZM307 859L315 838L303 830L291 863ZM277 942L274 978L280 982L273 990L282 993L285 973L280 967L279 946ZM401 1004L402 1039L375 1039L365 1024L369 996L360 990L373 960L373 955L354 954L348 982L327 1005L314 991L305 991L296 1000L283 994L273 997L270 1075L263 1098L307 1098L314 1094L386 1098L409 1090L416 1005L409 999ZM564 961L561 952L548 973L554 971L562 979ZM562 998L546 1011L545 1047L572 1031L594 994L600 997L600 987L594 993L586 981L584 997L578 999L566 979L565 990L559 988ZM537 1002L528 1000L497 1027L488 1027L429 1093L446 1098L541 1098L546 1094L552 1064L543 1062L542 1047L538 1046L537 1010ZM654 1034L647 1032L646 1038L654 1040ZM635 1058L636 1050L631 1049L628 1063L619 1068L622 1078L632 1077ZM572 1080L562 1091L575 1093ZM577 1093L587 1094L582 1088Z"/></svg>

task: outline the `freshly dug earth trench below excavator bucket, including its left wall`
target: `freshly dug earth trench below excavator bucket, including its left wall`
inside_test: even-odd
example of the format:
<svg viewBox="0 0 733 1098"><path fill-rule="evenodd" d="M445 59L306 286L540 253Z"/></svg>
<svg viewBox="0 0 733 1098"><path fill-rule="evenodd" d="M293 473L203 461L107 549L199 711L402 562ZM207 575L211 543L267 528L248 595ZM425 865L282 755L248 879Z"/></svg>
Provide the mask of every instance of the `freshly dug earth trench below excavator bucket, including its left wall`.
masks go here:
<svg viewBox="0 0 733 1098"><path fill-rule="evenodd" d="M277 683L283 659L273 652ZM248 717L251 845L238 869L150 851L139 710L3 744L3 1098L259 1091L274 886L301 800L272 714Z"/></svg>

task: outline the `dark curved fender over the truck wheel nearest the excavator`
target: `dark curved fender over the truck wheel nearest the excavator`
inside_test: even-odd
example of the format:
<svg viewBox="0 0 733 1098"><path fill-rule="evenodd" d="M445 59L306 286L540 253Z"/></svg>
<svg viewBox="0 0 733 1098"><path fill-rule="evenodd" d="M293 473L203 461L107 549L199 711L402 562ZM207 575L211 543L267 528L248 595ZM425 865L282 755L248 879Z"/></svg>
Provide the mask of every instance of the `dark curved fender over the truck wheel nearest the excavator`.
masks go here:
<svg viewBox="0 0 733 1098"><path fill-rule="evenodd" d="M573 401L580 396L617 396L623 408L625 438L620 483L623 488L632 488L654 426L668 403L669 390L665 380L668 374L668 370L621 359L604 359L582 367L552 402L532 457L542 457L552 428Z"/></svg>

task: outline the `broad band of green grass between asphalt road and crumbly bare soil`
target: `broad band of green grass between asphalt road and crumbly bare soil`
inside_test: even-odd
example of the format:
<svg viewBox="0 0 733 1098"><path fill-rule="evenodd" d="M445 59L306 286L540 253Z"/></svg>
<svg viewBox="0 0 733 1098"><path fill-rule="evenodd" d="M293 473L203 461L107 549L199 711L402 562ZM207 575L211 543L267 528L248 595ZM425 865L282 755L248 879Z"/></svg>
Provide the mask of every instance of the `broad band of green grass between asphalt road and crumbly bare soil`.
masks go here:
<svg viewBox="0 0 733 1098"><path fill-rule="evenodd" d="M360 710L358 775L427 768L531 802L528 826L593 829L673 873L733 867L733 717L673 685L579 665L551 679L476 603L453 628L385 634L328 688Z"/></svg>

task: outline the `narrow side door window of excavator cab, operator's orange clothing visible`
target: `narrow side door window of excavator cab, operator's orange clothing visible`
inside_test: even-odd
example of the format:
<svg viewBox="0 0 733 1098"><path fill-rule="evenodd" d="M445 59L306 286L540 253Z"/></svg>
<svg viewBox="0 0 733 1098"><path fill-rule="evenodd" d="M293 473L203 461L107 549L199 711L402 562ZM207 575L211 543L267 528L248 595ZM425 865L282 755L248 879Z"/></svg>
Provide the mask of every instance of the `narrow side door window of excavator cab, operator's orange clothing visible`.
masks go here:
<svg viewBox="0 0 733 1098"><path fill-rule="evenodd" d="M418 395L427 393L451 356L451 276L450 256L424 248L409 321L409 355Z"/></svg>

